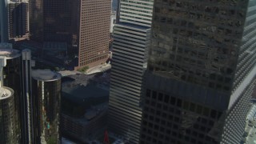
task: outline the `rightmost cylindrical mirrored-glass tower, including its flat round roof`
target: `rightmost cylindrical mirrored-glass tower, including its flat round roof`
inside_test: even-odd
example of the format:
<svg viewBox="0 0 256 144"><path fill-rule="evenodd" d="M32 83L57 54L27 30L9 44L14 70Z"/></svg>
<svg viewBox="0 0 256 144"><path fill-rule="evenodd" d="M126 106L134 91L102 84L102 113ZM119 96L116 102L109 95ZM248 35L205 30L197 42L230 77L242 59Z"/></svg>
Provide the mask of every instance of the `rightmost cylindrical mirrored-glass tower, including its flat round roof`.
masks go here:
<svg viewBox="0 0 256 144"><path fill-rule="evenodd" d="M32 105L35 143L60 143L61 74L32 70Z"/></svg>

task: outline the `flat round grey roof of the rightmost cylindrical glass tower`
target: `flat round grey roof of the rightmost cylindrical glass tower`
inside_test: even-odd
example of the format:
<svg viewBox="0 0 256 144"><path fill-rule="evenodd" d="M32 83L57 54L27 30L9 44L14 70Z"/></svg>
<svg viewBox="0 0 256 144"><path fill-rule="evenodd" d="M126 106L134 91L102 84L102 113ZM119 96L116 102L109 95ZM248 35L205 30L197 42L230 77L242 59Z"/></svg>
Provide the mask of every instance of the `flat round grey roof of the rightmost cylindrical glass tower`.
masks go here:
<svg viewBox="0 0 256 144"><path fill-rule="evenodd" d="M38 81L50 82L58 80L62 76L52 70L32 70L32 78Z"/></svg>

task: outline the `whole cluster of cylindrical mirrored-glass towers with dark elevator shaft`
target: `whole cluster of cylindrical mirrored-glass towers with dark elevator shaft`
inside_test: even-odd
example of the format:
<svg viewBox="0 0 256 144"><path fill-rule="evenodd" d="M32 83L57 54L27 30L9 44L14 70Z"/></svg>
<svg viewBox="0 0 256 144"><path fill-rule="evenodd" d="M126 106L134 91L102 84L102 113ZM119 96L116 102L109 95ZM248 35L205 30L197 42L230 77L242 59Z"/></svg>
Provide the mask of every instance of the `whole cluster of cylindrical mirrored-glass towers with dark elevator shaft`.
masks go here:
<svg viewBox="0 0 256 144"><path fill-rule="evenodd" d="M58 143L60 74L34 70L31 81L30 50L8 43L0 44L0 62L0 143Z"/></svg>

